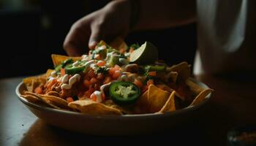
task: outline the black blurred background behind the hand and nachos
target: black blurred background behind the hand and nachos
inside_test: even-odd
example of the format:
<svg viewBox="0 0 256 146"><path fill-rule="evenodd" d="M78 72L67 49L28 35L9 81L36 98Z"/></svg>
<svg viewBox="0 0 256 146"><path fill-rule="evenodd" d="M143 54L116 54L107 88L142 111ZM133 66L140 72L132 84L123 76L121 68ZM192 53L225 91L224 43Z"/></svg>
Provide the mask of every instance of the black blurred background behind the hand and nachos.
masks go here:
<svg viewBox="0 0 256 146"><path fill-rule="evenodd" d="M50 54L66 55L62 44L79 18L101 7L105 0L0 0L0 78L42 74L53 68ZM168 64L193 64L195 23L164 30L138 31L125 39L128 45L145 41L159 48Z"/></svg>

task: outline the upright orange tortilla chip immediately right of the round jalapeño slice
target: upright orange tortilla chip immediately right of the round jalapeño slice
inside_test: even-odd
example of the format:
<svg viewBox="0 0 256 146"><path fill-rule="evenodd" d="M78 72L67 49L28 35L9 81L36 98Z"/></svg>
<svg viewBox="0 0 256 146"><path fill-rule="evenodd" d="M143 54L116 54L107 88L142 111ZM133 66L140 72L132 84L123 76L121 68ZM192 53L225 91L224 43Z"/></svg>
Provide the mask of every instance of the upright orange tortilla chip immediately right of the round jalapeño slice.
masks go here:
<svg viewBox="0 0 256 146"><path fill-rule="evenodd" d="M162 109L170 96L170 92L163 91L151 84L148 87L148 112L158 112Z"/></svg>

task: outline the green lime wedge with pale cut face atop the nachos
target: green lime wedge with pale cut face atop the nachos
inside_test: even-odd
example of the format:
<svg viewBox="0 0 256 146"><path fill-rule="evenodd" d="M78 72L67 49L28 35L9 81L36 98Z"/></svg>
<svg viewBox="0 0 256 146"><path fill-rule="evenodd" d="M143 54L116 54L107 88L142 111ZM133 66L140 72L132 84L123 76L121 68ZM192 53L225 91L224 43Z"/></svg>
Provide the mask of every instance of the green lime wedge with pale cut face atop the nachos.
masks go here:
<svg viewBox="0 0 256 146"><path fill-rule="evenodd" d="M150 64L157 61L158 50L151 42L145 42L137 50L130 54L129 62L138 64Z"/></svg>

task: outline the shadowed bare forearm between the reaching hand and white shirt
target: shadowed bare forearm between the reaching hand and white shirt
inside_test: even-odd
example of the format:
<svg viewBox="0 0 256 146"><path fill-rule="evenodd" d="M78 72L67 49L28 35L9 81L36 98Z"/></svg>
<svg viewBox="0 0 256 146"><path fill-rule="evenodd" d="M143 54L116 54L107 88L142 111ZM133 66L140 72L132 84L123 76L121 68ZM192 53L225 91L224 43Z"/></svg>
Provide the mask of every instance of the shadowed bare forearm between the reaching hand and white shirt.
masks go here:
<svg viewBox="0 0 256 146"><path fill-rule="evenodd" d="M140 0L138 2L138 20L133 30L169 28L195 21L195 0Z"/></svg>

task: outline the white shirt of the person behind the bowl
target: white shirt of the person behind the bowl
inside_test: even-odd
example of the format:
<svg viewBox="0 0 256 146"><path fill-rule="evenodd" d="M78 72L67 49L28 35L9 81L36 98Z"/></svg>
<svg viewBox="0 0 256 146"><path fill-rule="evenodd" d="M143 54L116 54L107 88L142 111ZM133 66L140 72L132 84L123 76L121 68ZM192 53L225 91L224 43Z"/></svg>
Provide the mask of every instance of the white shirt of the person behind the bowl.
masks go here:
<svg viewBox="0 0 256 146"><path fill-rule="evenodd" d="M256 1L197 0L194 74L256 70Z"/></svg>

